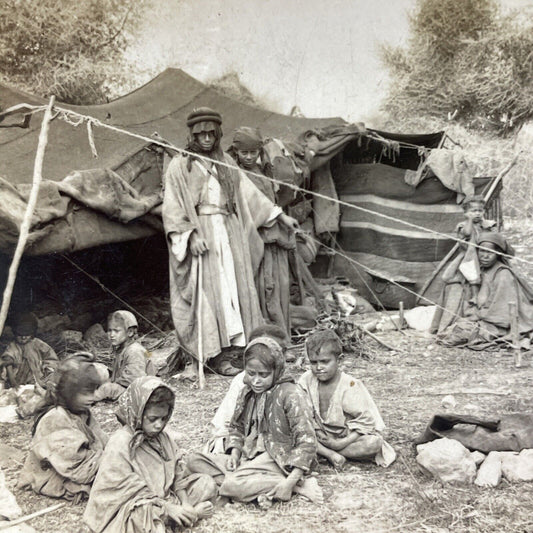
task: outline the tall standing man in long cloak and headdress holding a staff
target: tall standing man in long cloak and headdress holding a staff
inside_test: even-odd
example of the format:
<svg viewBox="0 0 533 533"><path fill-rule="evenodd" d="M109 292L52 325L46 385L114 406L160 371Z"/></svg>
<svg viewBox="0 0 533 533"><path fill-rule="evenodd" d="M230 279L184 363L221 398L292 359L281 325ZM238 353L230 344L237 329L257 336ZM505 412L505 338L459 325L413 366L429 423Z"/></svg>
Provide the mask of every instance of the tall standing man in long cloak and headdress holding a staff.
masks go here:
<svg viewBox="0 0 533 533"><path fill-rule="evenodd" d="M226 166L236 165L220 147L221 125L207 107L188 116L187 150L198 156L174 157L163 199L172 318L182 347L196 357L201 337L204 361L244 347L263 323L254 284L264 251L257 229L275 221L298 227L242 171Z"/></svg>

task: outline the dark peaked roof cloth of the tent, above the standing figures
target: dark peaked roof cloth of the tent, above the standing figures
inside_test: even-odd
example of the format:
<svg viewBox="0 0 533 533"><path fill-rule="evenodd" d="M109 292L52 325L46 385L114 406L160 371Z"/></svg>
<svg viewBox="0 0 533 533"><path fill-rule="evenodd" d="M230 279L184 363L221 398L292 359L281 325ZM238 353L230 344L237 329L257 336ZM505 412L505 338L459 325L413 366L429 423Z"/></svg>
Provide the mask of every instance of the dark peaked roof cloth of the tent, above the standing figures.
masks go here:
<svg viewBox="0 0 533 533"><path fill-rule="evenodd" d="M46 100L0 85L2 109L20 103L41 105L46 104ZM345 124L340 118L289 117L243 104L178 69L167 69L146 85L108 104L57 105L134 133L150 136L157 132L179 147L186 144L187 115L193 108L201 106L209 106L221 112L225 147L231 142L233 130L240 126L258 127L265 137L295 139L307 129ZM0 129L0 176L12 184L31 182L42 115L39 113L34 116L28 129ZM43 178L59 181L74 170L115 170L146 145L142 140L104 128L94 128L94 140L97 159L92 155L85 125L73 127L61 120L52 122Z"/></svg>

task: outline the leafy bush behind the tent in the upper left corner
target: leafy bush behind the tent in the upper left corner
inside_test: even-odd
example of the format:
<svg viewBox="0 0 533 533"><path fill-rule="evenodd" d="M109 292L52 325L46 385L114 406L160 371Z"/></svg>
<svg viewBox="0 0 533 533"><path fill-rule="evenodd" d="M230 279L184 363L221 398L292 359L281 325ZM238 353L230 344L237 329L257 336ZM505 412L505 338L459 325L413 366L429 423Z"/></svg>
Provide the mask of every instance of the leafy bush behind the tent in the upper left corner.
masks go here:
<svg viewBox="0 0 533 533"><path fill-rule="evenodd" d="M3 0L2 81L71 104L105 102L143 9L139 0Z"/></svg>

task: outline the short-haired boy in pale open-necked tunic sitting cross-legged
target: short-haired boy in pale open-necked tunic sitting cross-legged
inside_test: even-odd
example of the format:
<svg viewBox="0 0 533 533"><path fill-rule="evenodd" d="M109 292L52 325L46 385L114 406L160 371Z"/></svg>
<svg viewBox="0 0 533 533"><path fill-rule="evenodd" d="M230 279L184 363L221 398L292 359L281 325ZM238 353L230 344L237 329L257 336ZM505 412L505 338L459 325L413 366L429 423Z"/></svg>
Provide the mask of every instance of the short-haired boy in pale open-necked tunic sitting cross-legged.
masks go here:
<svg viewBox="0 0 533 533"><path fill-rule="evenodd" d="M317 331L305 347L311 370L299 385L313 407L318 454L336 468L346 459L390 465L396 454L379 433L385 424L374 400L361 381L339 369L340 339L331 330Z"/></svg>

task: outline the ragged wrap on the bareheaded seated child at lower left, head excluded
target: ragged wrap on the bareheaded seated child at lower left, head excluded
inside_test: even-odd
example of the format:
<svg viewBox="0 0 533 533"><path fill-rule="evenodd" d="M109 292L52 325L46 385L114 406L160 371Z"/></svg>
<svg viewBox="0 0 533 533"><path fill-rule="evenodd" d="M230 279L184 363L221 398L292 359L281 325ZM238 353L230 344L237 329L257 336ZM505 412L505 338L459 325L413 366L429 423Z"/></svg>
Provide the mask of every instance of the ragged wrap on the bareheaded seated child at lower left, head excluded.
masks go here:
<svg viewBox="0 0 533 533"><path fill-rule="evenodd" d="M37 424L19 486L69 500L80 492L89 494L106 442L90 412L54 407Z"/></svg>

